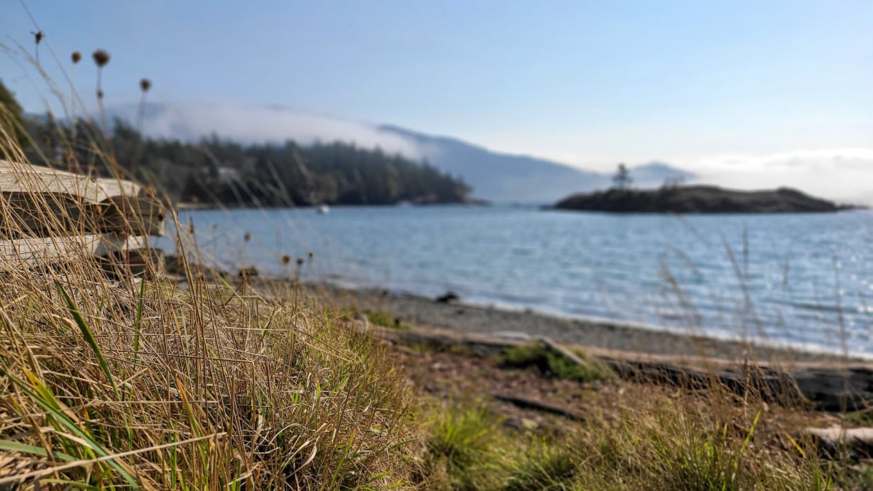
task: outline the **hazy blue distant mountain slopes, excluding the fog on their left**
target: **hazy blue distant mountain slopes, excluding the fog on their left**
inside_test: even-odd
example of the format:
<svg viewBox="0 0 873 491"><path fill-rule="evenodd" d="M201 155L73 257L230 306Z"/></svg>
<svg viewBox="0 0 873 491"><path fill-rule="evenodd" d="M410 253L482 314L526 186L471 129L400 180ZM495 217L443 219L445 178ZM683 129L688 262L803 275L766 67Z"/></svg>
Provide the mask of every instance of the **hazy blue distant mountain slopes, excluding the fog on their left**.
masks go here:
<svg viewBox="0 0 873 491"><path fill-rule="evenodd" d="M491 152L462 140L416 133L398 126L378 129L410 140L430 164L460 176L473 188L473 195L489 201L553 202L567 194L608 188L610 174L570 167L552 160L526 155ZM636 186L656 187L667 180L691 181L694 174L663 162L630 169Z"/></svg>

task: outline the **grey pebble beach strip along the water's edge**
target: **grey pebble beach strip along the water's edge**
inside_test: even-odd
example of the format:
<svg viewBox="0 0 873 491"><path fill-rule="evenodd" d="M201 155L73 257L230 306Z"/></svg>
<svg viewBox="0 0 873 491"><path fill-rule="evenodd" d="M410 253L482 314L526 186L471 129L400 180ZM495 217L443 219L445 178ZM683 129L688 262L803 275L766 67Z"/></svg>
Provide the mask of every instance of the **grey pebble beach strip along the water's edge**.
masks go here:
<svg viewBox="0 0 873 491"><path fill-rule="evenodd" d="M761 340L743 342L656 325L580 317L525 308L506 308L463 299L449 303L409 293L376 288L347 288L331 283L307 283L306 289L325 294L334 304L354 310L390 312L405 324L514 341L546 337L601 351L650 356L754 359L783 363L870 364L868 357L818 351L814 347Z"/></svg>

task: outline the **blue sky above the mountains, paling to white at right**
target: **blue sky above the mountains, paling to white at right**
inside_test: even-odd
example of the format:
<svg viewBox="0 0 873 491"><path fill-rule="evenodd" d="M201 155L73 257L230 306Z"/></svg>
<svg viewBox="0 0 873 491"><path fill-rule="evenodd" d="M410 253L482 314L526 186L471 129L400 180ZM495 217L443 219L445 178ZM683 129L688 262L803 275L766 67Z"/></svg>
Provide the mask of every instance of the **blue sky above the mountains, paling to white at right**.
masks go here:
<svg viewBox="0 0 873 491"><path fill-rule="evenodd" d="M148 77L150 100L220 106L238 125L235 107L279 106L312 127L389 123L593 169L813 182L830 165L851 182L873 167L870 1L7 0L0 78L40 112L51 92L14 52L34 52L23 4L46 34L41 64L65 80L53 51L86 106L104 48L107 104L134 104Z"/></svg>

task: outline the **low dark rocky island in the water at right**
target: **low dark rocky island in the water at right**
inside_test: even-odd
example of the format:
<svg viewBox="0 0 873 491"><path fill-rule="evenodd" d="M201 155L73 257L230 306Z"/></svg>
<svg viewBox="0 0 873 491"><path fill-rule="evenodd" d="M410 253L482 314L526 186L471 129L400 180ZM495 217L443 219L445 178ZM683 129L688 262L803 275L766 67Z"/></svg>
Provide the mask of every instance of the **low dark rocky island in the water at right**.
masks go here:
<svg viewBox="0 0 873 491"><path fill-rule="evenodd" d="M791 188L739 191L715 186L612 188L572 194L554 208L615 213L822 213L849 207Z"/></svg>

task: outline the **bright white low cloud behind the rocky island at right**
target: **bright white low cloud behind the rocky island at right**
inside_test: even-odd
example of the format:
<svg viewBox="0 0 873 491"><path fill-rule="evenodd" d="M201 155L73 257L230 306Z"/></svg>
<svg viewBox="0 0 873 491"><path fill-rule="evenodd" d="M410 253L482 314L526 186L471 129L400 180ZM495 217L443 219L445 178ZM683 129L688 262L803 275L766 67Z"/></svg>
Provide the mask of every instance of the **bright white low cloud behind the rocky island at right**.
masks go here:
<svg viewBox="0 0 873 491"><path fill-rule="evenodd" d="M682 162L698 181L727 188L798 188L835 201L873 205L873 149L720 155Z"/></svg>

